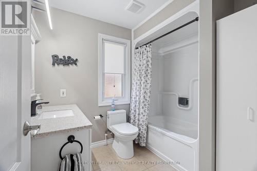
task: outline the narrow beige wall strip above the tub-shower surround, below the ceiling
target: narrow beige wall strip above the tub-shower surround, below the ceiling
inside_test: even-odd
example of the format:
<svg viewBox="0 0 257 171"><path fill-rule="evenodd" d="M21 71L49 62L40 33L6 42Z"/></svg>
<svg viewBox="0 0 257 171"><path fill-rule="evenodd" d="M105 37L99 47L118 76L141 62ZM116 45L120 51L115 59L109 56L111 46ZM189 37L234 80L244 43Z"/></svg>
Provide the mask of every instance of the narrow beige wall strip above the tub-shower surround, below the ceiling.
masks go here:
<svg viewBox="0 0 257 171"><path fill-rule="evenodd" d="M187 7L189 4L196 0L174 0L167 7L163 8L160 12L154 15L150 20L142 24L140 27L134 30L134 40L137 39L143 33L154 28L161 22L165 21L181 9Z"/></svg>

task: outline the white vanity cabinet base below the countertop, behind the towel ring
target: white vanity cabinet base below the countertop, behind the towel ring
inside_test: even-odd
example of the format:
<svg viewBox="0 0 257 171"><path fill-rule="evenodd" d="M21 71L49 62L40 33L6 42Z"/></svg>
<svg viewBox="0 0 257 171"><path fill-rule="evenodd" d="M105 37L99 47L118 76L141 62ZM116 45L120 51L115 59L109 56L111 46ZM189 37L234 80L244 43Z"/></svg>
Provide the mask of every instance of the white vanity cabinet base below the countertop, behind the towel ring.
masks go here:
<svg viewBox="0 0 257 171"><path fill-rule="evenodd" d="M85 171L90 170L91 161L90 137L91 129L56 133L48 136L31 139L31 171L59 171L61 159L59 151L68 140L68 136L73 135L83 145L82 160ZM81 150L79 143L68 143L62 150L62 157L67 154L79 153ZM90 153L90 154L89 154Z"/></svg>

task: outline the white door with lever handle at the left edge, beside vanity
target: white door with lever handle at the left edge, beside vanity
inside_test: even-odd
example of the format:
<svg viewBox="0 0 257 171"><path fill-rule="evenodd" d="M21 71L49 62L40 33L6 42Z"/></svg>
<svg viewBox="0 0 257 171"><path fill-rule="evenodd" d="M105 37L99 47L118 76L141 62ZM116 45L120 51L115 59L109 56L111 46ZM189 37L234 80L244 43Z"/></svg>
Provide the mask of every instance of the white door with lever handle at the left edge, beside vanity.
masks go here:
<svg viewBox="0 0 257 171"><path fill-rule="evenodd" d="M30 35L0 36L0 171L30 170L30 74Z"/></svg>

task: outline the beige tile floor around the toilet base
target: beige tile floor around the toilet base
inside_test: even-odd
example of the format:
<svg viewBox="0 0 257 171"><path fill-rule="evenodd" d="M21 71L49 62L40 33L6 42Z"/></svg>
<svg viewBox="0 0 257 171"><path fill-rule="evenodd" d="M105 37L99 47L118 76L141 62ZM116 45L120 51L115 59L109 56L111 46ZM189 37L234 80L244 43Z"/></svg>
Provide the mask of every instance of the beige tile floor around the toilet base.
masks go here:
<svg viewBox="0 0 257 171"><path fill-rule="evenodd" d="M163 160L149 149L137 144L134 145L134 157L132 159L119 158L112 148L112 144L109 144L93 148L92 161L94 162L92 171L175 171L168 164L158 164Z"/></svg>

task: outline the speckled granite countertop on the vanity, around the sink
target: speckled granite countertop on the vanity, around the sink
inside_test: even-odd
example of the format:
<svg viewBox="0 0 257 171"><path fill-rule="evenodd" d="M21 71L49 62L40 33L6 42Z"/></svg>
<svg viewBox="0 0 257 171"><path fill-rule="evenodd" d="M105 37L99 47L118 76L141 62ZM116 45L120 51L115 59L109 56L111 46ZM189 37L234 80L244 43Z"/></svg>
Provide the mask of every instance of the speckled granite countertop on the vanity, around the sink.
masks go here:
<svg viewBox="0 0 257 171"><path fill-rule="evenodd" d="M40 138L59 132L79 131L80 129L89 129L92 127L91 122L86 118L84 113L76 104L61 106L43 106L43 111L69 109L73 111L74 116L40 120L40 115L31 117L31 124L41 124L41 130L33 138Z"/></svg>

